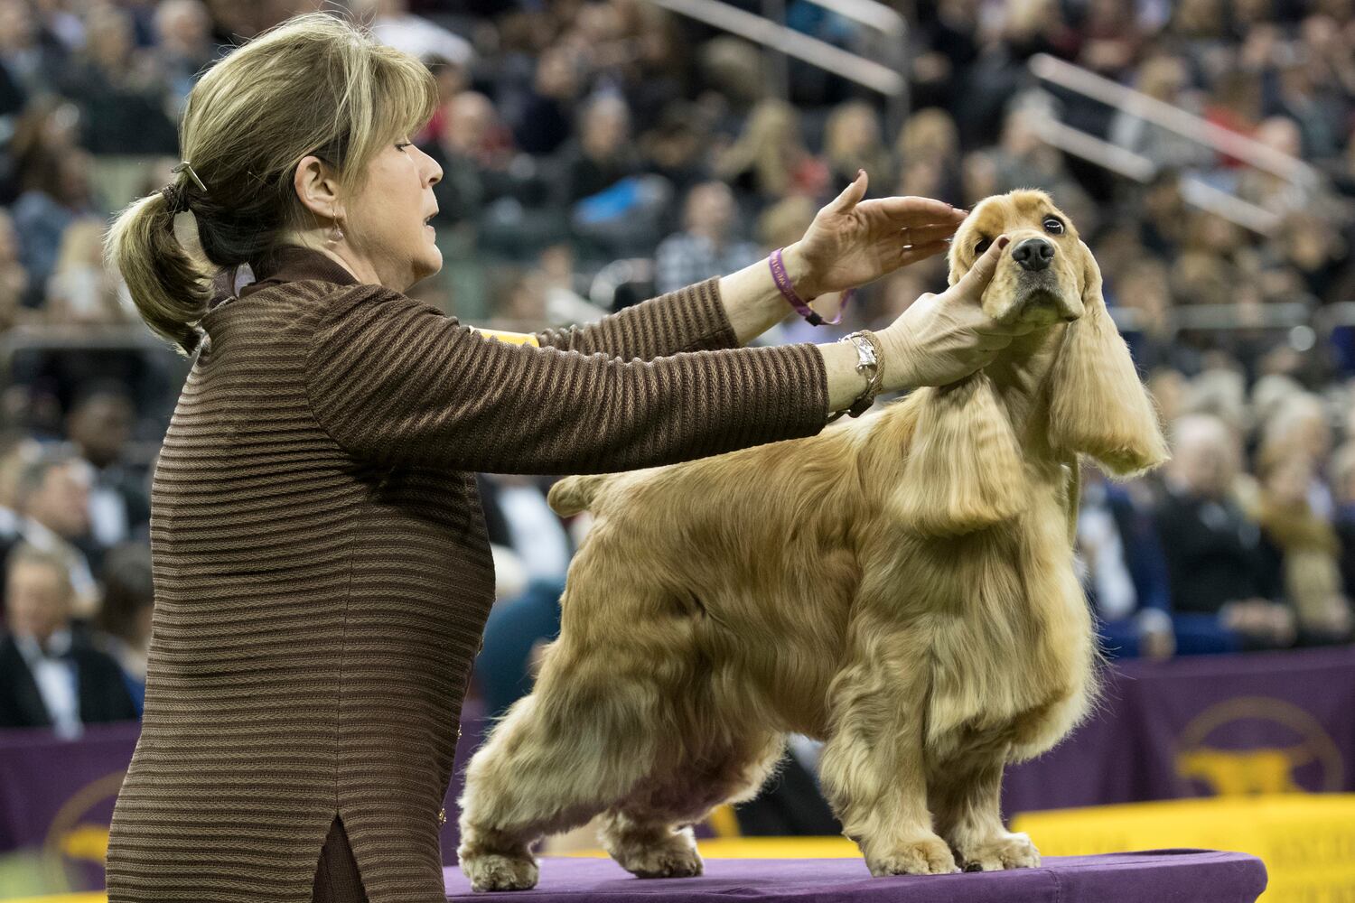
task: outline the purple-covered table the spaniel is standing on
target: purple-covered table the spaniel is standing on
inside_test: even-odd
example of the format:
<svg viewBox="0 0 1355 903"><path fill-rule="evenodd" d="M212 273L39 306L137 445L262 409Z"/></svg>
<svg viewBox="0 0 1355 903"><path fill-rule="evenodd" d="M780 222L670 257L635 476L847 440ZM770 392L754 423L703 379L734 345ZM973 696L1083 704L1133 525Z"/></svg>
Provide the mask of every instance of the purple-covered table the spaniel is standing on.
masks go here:
<svg viewBox="0 0 1355 903"><path fill-rule="evenodd" d="M611 860L543 858L534 891L472 894L444 871L449 900L551 903L1252 903L1266 889L1255 856L1149 850L1050 856L1038 869L875 879L860 860L706 860L687 879L635 879Z"/></svg>

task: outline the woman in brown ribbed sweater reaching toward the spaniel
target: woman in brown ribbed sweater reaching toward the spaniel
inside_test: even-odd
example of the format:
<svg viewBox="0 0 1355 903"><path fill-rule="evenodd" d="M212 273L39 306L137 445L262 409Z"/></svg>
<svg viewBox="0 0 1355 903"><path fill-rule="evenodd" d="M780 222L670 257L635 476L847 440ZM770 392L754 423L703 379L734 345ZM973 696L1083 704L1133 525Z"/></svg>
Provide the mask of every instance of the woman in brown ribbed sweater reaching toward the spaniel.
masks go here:
<svg viewBox="0 0 1355 903"><path fill-rule="evenodd" d="M110 230L146 324L196 353L153 482L153 639L112 903L442 903L440 807L493 598L474 471L808 436L1009 343L976 303L996 250L862 344L737 348L787 311L766 263L539 348L486 338L402 294L442 263L424 226L442 173L409 144L435 96L421 64L350 24L289 20L202 77L179 181ZM786 249L804 296L938 253L961 219L921 199L858 206L864 190ZM257 282L211 305L180 210L220 284L243 263ZM871 349L874 384L856 371Z"/></svg>

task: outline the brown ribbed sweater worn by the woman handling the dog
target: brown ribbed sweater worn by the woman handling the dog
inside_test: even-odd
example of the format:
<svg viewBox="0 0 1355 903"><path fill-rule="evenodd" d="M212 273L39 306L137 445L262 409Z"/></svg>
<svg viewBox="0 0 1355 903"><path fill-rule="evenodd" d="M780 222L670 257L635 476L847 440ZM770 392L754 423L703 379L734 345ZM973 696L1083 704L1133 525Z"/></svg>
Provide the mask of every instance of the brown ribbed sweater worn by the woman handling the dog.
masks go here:
<svg viewBox="0 0 1355 903"><path fill-rule="evenodd" d="M531 348L314 250L257 276L205 317L156 464L108 898L304 903L337 814L371 903L440 903L439 808L493 600L473 471L813 435L822 359L733 348L715 279Z"/></svg>

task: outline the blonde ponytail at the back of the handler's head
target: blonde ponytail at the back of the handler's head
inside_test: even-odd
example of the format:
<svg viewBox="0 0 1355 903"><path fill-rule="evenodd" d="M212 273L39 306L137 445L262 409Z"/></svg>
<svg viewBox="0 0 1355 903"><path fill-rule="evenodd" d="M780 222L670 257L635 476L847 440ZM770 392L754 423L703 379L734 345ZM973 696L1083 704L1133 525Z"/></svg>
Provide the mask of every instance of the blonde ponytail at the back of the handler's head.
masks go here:
<svg viewBox="0 0 1355 903"><path fill-rule="evenodd" d="M211 280L173 232L175 211L160 191L129 204L108 227L104 259L122 273L141 318L175 351L192 357L202 344L198 321L211 301Z"/></svg>

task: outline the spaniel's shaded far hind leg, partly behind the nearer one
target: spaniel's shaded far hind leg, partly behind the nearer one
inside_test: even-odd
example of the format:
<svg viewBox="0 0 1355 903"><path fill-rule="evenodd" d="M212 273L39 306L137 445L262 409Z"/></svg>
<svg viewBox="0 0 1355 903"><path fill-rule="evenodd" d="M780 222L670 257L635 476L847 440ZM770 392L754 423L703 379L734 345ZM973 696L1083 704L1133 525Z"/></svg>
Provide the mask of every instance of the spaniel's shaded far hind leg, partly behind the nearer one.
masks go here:
<svg viewBox="0 0 1355 903"><path fill-rule="evenodd" d="M741 803L762 789L785 750L780 734L749 738L738 751L680 757L665 776L641 783L610 808L598 837L617 862L637 877L691 877L702 873L691 824L724 803Z"/></svg>

